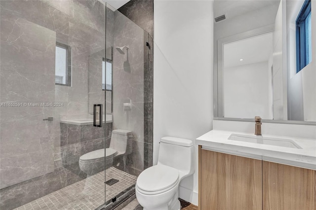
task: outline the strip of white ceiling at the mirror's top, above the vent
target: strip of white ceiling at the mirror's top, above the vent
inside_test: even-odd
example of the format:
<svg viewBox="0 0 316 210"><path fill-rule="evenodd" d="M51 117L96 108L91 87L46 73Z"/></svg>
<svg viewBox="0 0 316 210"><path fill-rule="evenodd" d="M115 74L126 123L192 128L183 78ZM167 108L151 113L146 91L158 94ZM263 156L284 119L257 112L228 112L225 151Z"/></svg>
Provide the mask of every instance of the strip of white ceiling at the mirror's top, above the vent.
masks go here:
<svg viewBox="0 0 316 210"><path fill-rule="evenodd" d="M214 17L226 15L226 18L233 18L264 8L267 8L267 15L275 16L279 2L280 0L214 0Z"/></svg>

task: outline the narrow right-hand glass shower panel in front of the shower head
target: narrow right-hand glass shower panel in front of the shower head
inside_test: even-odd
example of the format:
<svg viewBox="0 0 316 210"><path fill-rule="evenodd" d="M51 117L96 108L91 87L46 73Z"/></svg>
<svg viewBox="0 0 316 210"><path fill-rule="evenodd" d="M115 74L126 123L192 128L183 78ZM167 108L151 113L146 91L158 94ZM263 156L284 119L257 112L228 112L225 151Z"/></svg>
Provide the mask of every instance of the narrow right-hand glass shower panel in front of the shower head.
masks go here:
<svg viewBox="0 0 316 210"><path fill-rule="evenodd" d="M106 90L106 111L113 120L106 123L106 209L134 194L152 153L147 143L149 52L148 33L107 4L106 59L111 65L106 71L112 86ZM118 153L107 153L112 150Z"/></svg>

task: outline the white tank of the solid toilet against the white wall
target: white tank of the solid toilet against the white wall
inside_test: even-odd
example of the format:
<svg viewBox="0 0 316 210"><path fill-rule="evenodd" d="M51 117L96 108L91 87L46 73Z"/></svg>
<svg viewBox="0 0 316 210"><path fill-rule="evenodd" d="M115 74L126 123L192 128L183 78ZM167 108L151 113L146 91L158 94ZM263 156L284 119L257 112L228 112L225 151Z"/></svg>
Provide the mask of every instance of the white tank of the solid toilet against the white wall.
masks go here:
<svg viewBox="0 0 316 210"><path fill-rule="evenodd" d="M158 164L170 166L192 175L195 171L195 154L192 140L163 137L160 140Z"/></svg>

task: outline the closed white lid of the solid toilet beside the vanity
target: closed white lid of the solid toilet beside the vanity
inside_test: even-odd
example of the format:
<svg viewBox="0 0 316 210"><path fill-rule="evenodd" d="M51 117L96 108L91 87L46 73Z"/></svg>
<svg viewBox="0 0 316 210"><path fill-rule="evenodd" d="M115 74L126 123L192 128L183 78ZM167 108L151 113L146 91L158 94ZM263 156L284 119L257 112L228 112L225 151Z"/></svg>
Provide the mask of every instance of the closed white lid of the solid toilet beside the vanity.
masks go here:
<svg viewBox="0 0 316 210"><path fill-rule="evenodd" d="M137 186L145 191L159 191L171 187L179 180L179 171L164 165L152 166L137 178Z"/></svg>

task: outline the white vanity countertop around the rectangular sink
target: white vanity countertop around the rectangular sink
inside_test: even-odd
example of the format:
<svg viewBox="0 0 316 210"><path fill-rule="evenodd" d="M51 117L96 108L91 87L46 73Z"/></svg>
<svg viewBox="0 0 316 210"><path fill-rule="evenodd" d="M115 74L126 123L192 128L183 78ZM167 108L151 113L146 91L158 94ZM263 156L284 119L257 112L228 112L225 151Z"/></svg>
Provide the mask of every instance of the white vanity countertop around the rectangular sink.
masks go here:
<svg viewBox="0 0 316 210"><path fill-rule="evenodd" d="M266 138L275 137L293 140L302 147L299 149L229 140L228 138L232 134L251 135L254 138L257 137L250 133L212 130L198 137L196 139L196 144L201 145L202 148L208 150L316 170L316 140L262 135L262 137Z"/></svg>

